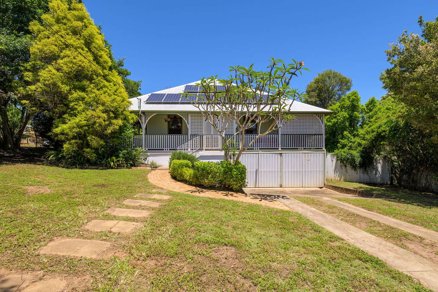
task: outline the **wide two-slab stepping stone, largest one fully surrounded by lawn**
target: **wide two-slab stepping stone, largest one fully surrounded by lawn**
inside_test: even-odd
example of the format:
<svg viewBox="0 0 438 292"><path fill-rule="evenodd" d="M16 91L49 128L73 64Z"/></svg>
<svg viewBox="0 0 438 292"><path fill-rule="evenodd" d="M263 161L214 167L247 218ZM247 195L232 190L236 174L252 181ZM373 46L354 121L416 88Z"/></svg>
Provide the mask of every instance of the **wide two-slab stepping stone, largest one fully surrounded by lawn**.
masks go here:
<svg viewBox="0 0 438 292"><path fill-rule="evenodd" d="M109 245L109 242L101 240L64 238L43 246L39 249L39 253L99 258L99 255L108 249Z"/></svg>

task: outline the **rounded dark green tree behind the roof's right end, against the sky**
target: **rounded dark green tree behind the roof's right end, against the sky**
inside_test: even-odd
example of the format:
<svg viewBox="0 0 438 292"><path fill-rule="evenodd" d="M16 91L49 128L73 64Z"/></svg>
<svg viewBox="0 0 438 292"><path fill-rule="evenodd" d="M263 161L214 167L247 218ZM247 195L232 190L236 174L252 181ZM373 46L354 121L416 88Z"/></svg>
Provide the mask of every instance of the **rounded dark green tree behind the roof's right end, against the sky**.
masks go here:
<svg viewBox="0 0 438 292"><path fill-rule="evenodd" d="M335 70L322 71L318 73L313 81L307 84L306 94L308 98L304 99L304 102L327 109L345 95L347 91L350 91L352 85L350 78Z"/></svg>

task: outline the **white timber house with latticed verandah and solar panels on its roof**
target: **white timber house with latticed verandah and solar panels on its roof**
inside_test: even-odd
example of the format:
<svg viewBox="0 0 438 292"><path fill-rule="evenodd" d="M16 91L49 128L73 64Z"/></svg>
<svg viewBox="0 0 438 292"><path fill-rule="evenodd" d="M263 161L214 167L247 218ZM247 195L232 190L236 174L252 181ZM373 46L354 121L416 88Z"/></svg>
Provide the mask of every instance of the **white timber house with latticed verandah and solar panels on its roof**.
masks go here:
<svg viewBox="0 0 438 292"><path fill-rule="evenodd" d="M146 149L149 161L167 165L172 151L193 153L200 160L223 159L222 137L199 109L180 93L191 92L196 99L195 81L130 99L137 115L135 147ZM248 187L322 187L325 182L324 119L332 112L302 102L293 102L294 118L276 131L258 138L240 161L247 167ZM231 118L230 118L231 119ZM219 121L219 125L224 124ZM230 127L230 125L233 125ZM268 127L263 123L260 132ZM246 130L245 146L257 136L257 128ZM222 129L226 138L236 125ZM237 139L237 138L236 138Z"/></svg>

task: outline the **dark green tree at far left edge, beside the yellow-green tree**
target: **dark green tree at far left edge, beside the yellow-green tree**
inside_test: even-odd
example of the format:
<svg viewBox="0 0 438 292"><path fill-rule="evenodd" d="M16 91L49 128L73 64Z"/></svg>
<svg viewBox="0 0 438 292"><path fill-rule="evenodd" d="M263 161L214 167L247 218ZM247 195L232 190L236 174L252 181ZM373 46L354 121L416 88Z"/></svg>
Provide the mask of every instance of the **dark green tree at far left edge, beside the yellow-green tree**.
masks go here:
<svg viewBox="0 0 438 292"><path fill-rule="evenodd" d="M38 111L39 100L25 95L22 67L32 38L29 23L48 11L49 0L0 1L0 144L20 148L25 127Z"/></svg>

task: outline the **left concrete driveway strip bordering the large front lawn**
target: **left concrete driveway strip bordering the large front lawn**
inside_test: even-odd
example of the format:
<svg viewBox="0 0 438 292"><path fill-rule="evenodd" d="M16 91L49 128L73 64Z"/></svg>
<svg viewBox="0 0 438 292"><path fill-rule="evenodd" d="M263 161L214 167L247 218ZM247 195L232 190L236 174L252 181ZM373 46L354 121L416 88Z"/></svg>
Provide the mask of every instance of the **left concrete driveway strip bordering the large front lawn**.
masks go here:
<svg viewBox="0 0 438 292"><path fill-rule="evenodd" d="M380 258L391 267L416 278L427 288L438 291L438 265L430 260L386 242L293 198L280 198L278 200L292 211L304 215L345 241L374 257Z"/></svg>

